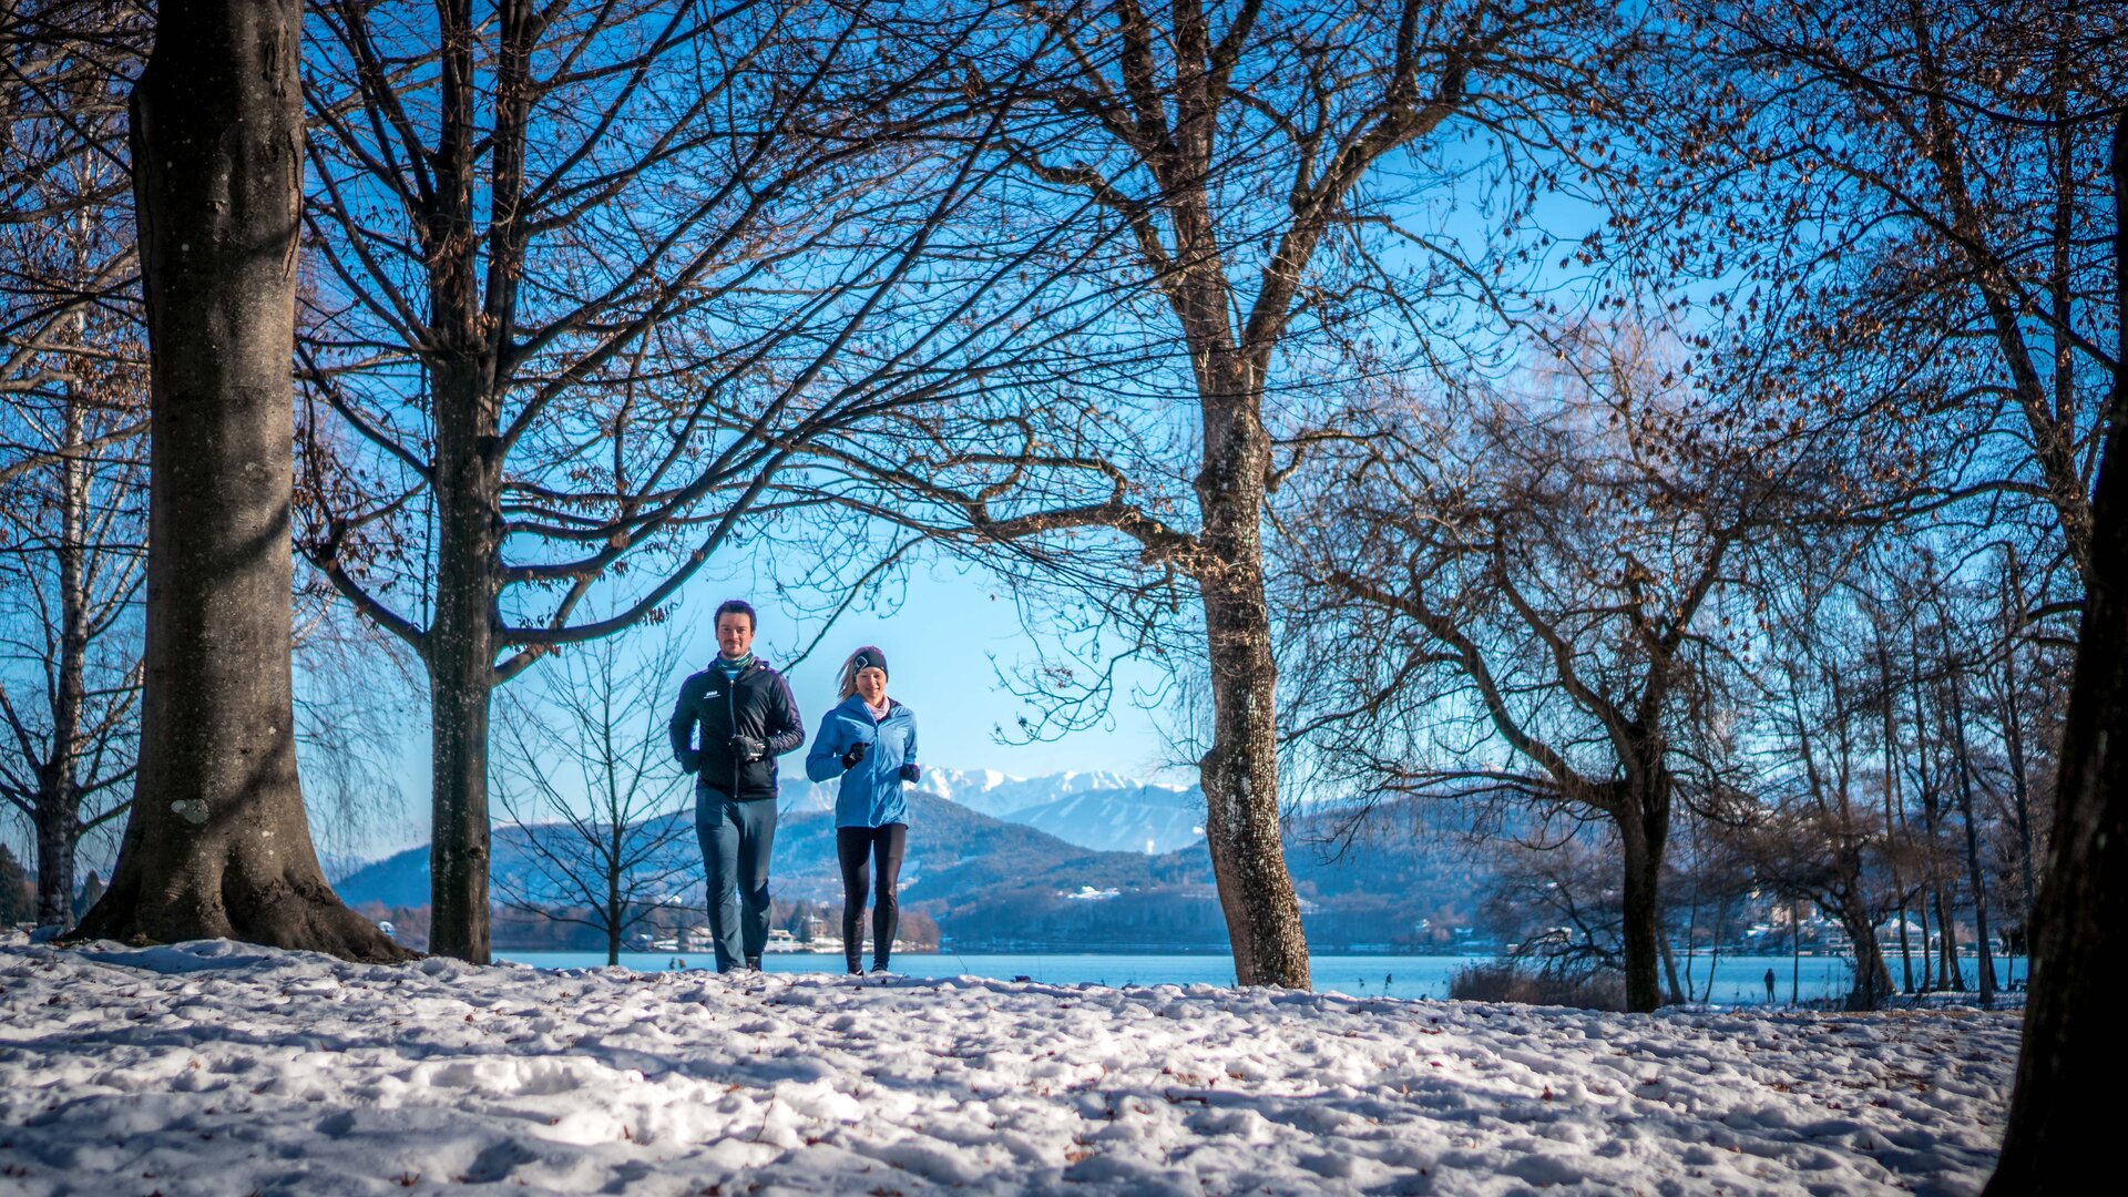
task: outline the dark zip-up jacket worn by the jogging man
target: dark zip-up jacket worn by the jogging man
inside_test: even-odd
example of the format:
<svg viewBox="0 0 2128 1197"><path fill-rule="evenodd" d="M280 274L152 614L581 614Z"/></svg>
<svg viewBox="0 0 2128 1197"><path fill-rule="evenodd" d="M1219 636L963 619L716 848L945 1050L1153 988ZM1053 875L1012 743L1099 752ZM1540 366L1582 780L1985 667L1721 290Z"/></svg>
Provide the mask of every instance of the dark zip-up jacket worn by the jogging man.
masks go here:
<svg viewBox="0 0 2128 1197"><path fill-rule="evenodd" d="M702 724L700 750L692 743L696 724ZM666 731L672 733L672 756L681 769L700 773L700 786L738 801L777 797L777 756L804 743L804 722L789 682L758 658L734 679L711 665L681 682ZM741 735L760 741L753 760L743 760L732 743Z"/></svg>

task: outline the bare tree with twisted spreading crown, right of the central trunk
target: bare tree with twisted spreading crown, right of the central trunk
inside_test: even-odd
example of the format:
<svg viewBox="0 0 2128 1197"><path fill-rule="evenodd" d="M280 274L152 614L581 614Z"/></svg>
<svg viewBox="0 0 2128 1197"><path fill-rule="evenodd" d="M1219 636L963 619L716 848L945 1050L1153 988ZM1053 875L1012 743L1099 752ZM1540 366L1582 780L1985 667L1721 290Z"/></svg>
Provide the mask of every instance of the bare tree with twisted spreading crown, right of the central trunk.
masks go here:
<svg viewBox="0 0 2128 1197"><path fill-rule="evenodd" d="M1705 394L1634 328L1553 341L1551 373L1447 413L1392 390L1307 481L1283 539L1324 662L1300 728L1360 792L1481 782L1607 820L1628 1003L1653 1010L1675 805L1736 801L1719 677L1764 647L1773 550L1843 518L1849 477L1841 424L1760 415L1783 396Z"/></svg>

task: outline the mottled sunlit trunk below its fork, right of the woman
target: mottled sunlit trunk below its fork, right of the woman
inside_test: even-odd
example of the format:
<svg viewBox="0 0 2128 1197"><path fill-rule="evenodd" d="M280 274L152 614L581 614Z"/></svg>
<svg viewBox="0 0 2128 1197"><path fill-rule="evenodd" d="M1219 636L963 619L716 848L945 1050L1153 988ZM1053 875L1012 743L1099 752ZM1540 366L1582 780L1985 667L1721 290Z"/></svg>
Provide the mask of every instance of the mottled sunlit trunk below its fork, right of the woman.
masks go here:
<svg viewBox="0 0 2128 1197"><path fill-rule="evenodd" d="M1213 364L1204 388L1204 637L1211 656L1213 737L1200 763L1204 841L1241 984L1309 988L1300 901L1279 841L1277 665L1264 596L1264 469L1270 443L1260 394L1238 366Z"/></svg>

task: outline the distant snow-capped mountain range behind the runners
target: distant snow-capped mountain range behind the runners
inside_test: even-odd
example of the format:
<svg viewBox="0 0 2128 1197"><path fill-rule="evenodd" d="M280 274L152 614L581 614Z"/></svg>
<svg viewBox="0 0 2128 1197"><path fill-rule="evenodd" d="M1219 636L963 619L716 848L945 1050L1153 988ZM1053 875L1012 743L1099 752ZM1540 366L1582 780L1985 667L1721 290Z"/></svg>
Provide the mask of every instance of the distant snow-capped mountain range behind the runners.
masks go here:
<svg viewBox="0 0 2128 1197"><path fill-rule="evenodd" d="M841 782L785 775L785 811L834 809ZM924 767L917 790L1004 822L1047 831L1066 843L1098 852L1162 854L1204 837L1204 797L1196 786L1141 782L1109 771L1015 777L996 769Z"/></svg>

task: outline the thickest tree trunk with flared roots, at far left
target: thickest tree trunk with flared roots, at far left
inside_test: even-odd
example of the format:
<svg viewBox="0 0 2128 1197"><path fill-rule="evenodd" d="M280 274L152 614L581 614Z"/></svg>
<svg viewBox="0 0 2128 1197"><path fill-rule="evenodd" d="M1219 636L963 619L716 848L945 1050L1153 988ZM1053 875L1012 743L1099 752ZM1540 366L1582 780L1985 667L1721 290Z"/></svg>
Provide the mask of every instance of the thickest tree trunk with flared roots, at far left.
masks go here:
<svg viewBox="0 0 2128 1197"><path fill-rule="evenodd" d="M164 0L132 155L153 366L147 686L119 863L79 935L394 961L296 780L289 490L298 0Z"/></svg>

